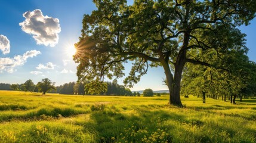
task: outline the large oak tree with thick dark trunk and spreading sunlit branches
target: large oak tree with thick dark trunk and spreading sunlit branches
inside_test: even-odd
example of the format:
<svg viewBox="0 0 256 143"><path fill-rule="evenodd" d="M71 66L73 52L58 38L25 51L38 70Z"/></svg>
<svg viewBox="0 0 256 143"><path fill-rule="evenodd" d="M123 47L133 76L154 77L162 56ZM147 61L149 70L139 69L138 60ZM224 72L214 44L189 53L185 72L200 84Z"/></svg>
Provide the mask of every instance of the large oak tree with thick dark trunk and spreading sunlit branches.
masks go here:
<svg viewBox="0 0 256 143"><path fill-rule="evenodd" d="M164 68L169 104L182 105L180 82L186 63L216 66L204 57L226 54L245 45L237 26L255 17L255 0L94 0L97 10L85 14L76 43L79 80L122 77L124 63L133 66L124 83L132 86L149 66ZM196 55L188 54L191 50ZM200 57L200 58L196 58ZM218 59L218 58L215 58ZM220 59L220 58L219 58ZM220 59L221 60L221 59ZM218 67L220 68L220 67Z"/></svg>

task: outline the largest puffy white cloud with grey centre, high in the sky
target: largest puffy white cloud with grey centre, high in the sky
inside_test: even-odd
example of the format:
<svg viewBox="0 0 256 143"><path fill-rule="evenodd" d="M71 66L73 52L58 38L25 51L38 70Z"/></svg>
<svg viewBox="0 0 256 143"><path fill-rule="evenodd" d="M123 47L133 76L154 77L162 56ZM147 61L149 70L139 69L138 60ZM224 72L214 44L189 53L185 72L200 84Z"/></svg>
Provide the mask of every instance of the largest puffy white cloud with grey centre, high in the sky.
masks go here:
<svg viewBox="0 0 256 143"><path fill-rule="evenodd" d="M20 23L21 29L32 34L38 45L55 46L58 43L61 31L58 18L44 16L39 9L27 11L23 17L26 20Z"/></svg>

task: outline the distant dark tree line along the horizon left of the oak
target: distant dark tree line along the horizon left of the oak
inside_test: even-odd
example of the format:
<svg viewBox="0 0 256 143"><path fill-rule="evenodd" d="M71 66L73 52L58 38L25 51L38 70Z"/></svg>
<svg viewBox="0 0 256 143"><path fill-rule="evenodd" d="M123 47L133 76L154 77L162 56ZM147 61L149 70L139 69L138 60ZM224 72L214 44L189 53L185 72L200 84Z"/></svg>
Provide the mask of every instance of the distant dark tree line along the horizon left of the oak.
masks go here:
<svg viewBox="0 0 256 143"><path fill-rule="evenodd" d="M139 93L132 93L129 88L125 88L123 85L119 85L117 80L113 82L104 82L101 88L95 88L95 81L91 82L69 82L60 86L54 86L54 82L50 79L42 79L36 85L31 79L21 84L8 84L0 83L1 90L13 90L13 91L30 91L30 92L46 92L58 93L58 94L75 94L75 95L125 95L125 96L140 96Z"/></svg>

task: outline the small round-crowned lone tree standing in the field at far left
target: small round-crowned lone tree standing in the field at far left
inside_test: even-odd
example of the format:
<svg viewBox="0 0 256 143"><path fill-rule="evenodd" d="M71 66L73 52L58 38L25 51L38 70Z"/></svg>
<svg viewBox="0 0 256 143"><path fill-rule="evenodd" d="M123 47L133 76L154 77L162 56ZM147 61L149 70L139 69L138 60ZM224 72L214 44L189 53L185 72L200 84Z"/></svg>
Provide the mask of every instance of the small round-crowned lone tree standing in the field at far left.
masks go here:
<svg viewBox="0 0 256 143"><path fill-rule="evenodd" d="M43 94L51 89L55 89L54 83L48 78L42 79L42 81L38 82L36 86L38 86L39 92L43 92Z"/></svg>

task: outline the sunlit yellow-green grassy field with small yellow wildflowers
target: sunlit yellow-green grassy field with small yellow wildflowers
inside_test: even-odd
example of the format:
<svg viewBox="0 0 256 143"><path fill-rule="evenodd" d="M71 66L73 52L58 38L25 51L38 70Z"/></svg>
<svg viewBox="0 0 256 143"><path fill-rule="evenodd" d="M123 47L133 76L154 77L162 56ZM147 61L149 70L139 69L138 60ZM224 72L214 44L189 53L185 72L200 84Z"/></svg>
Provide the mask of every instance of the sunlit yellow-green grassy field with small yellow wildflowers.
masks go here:
<svg viewBox="0 0 256 143"><path fill-rule="evenodd" d="M256 142L256 100L0 91L0 142Z"/></svg>

